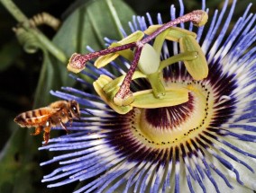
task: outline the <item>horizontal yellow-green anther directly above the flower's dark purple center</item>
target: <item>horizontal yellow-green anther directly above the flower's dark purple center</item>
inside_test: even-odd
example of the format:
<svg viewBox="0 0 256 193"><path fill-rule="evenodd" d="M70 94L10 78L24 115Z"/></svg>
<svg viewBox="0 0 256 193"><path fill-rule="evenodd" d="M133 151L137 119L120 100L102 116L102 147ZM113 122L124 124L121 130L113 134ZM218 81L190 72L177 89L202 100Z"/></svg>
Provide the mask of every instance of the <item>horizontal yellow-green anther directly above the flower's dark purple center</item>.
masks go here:
<svg viewBox="0 0 256 193"><path fill-rule="evenodd" d="M166 88L166 94L161 99L157 99L152 91L145 90L133 93L133 107L153 109L169 107L182 104L188 101L188 90L185 88Z"/></svg>

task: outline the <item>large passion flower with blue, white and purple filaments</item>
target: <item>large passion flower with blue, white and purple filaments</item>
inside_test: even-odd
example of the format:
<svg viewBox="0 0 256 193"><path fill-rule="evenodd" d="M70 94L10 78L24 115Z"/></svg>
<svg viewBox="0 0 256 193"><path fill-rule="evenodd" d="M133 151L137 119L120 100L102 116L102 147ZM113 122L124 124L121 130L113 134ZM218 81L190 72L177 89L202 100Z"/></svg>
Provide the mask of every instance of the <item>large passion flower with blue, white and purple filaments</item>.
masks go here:
<svg viewBox="0 0 256 193"><path fill-rule="evenodd" d="M182 16L184 5L179 2ZM228 9L228 1L225 1L220 13L215 11L214 15L209 15L206 27L196 29L197 42L206 56L207 75L197 78L200 72L196 72L196 76L191 73L191 66L184 62L187 61L185 56L174 64L169 62L170 56L182 54L184 49L179 49L177 43L161 40L160 48L151 45L158 48L151 54L160 55L160 61L154 60L154 64L159 63L158 68L139 66L142 74L138 71L131 77L131 80L139 77L132 83L132 101L121 106L113 101L126 70L130 69L129 56L131 60L135 57L130 49L100 57L96 61L99 69L87 63L89 71L81 72L95 79L94 88L99 96L70 87L51 92L61 99L78 101L82 118L69 127L72 134L51 138L49 145L40 148L60 154L41 163L59 162L59 168L44 176L42 181L50 182L49 188L83 181L84 185L76 192L256 190L256 16L249 13L249 4L233 30L227 32L235 3L233 1ZM204 5L205 2L203 10ZM170 14L171 20L175 20L174 6ZM129 23L132 31L148 32L157 28L149 14L147 18L149 24L144 17L134 17ZM158 24L162 24L160 17ZM184 27L183 24L178 26ZM192 30L190 25L189 31ZM113 40L106 40L110 45L113 43ZM117 44L120 46L123 41ZM142 56L147 56L147 52L142 52ZM188 57L193 60L193 56L192 53ZM113 62L114 58L120 58L123 65ZM119 74L107 71L102 61L105 65L110 62ZM76 65L81 67L81 63ZM200 67L198 63L195 65ZM156 74L150 77L147 72ZM154 82L156 77L160 77L159 82ZM160 85L161 89L154 85ZM164 94L158 95L161 92ZM184 99L177 102L179 96Z"/></svg>

